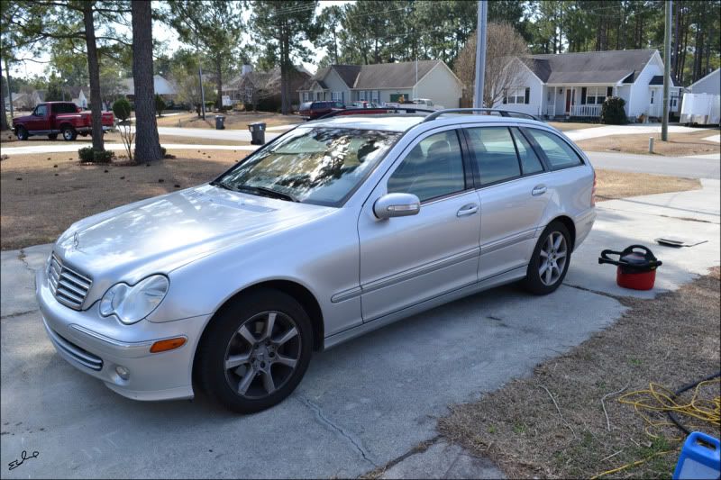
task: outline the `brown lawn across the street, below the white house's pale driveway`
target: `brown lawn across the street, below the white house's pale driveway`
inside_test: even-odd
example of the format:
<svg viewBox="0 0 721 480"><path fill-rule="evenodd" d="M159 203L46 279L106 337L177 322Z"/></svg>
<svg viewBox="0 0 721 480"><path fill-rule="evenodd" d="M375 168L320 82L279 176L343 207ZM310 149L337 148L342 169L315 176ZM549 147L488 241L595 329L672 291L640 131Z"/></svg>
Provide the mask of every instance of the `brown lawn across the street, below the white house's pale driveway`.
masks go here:
<svg viewBox="0 0 721 480"><path fill-rule="evenodd" d="M586 151L619 151L623 153L648 154L648 139L653 137L653 153L668 157L684 157L718 153L721 146L713 141L701 140L717 134L718 129L705 129L691 133L669 133L669 141L661 140L661 133L638 133L611 135L576 143Z"/></svg>

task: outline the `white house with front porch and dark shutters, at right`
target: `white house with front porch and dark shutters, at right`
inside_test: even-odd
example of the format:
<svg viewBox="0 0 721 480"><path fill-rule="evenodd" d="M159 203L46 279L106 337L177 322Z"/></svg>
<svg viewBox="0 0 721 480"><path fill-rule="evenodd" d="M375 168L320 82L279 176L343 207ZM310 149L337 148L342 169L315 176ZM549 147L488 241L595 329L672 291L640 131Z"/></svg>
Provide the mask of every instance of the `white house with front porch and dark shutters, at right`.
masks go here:
<svg viewBox="0 0 721 480"><path fill-rule="evenodd" d="M529 55L495 108L553 117L599 117L607 96L625 100L629 118L662 115L663 62L658 50ZM673 81L672 81L673 82ZM683 87L673 82L669 110L679 112Z"/></svg>

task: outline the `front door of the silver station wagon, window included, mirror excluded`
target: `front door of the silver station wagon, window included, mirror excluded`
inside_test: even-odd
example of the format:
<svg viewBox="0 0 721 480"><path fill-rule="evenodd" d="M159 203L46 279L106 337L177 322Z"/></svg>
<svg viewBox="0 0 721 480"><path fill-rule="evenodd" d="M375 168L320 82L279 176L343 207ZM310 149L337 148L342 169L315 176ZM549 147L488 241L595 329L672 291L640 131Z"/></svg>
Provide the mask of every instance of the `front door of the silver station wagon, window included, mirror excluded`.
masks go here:
<svg viewBox="0 0 721 480"><path fill-rule="evenodd" d="M387 193L421 201L412 216L379 220L373 204ZM376 186L359 216L363 322L478 281L479 196L459 133L421 135Z"/></svg>

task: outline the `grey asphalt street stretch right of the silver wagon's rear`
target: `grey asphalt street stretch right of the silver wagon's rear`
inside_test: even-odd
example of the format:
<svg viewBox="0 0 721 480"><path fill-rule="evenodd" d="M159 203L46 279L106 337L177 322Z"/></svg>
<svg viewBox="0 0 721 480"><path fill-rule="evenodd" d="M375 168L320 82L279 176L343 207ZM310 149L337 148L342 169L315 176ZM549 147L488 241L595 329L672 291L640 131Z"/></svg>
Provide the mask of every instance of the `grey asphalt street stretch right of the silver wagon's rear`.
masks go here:
<svg viewBox="0 0 721 480"><path fill-rule="evenodd" d="M598 151L587 151L586 154L596 168L671 177L716 179L721 177L721 153L718 158L662 157Z"/></svg>

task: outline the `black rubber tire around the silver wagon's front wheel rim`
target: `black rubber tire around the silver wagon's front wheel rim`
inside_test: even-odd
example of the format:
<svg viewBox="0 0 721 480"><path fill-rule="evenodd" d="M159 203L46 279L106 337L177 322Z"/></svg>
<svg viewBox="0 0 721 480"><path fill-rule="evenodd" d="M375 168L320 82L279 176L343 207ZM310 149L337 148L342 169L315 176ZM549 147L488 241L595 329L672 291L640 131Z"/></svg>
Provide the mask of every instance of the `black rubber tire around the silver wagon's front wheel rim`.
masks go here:
<svg viewBox="0 0 721 480"><path fill-rule="evenodd" d="M265 385L266 373L252 370L250 384L246 386L245 394L240 394L242 384L246 373L251 372L251 361L243 362L238 367L231 367L226 370L226 356L230 354L231 349L243 343L244 339L240 331L242 326L250 326L249 330L257 327L254 322L262 322L262 320L254 321L253 319L264 318L268 312L275 312L278 318L275 320L276 340L282 335L282 324L293 326L297 329L297 336L291 340L287 340L273 350L277 358L297 358L295 367L287 367L283 364L275 364L275 372L278 376L285 375L281 378L276 390L271 394L267 394L268 387ZM267 318L267 317L266 317ZM281 322L282 320L282 322ZM288 322L289 321L289 322ZM249 323L250 322L250 323ZM267 327L267 322L263 328ZM257 329L256 329L257 330ZM289 331L289 330L288 330ZM242 339L239 340L239 336ZM262 332L254 332L253 337L262 338ZM271 337L273 335L271 334ZM264 341L264 340L263 340ZM263 343L260 341L259 343ZM264 345L268 345L266 342ZM259 358L253 357L254 350L250 347L248 352L242 355L251 356L256 362L256 367L260 367L260 360L263 359L262 354ZM282 350L290 347L292 350ZM263 348L259 346L259 348ZM281 354L281 350L283 355ZM263 350L268 364L268 372L271 372L269 358L273 358L273 352ZM291 353L286 353L290 351ZM260 290L252 294L245 294L233 301L232 304L224 307L218 312L211 323L207 327L203 335L203 339L198 345L196 354L196 379L206 394L213 397L216 401L223 404L226 408L240 413L252 413L265 410L277 403L282 402L289 394L291 394L306 374L306 369L313 354L313 328L310 318L303 309L303 306L297 302L292 296L279 292L277 290ZM241 355L236 355L240 357ZM229 357L230 358L230 357ZM265 363L262 364L265 367ZM287 368L291 368L287 371ZM278 370L279 369L279 370ZM241 371L241 375L238 372ZM271 377L275 378L272 373ZM235 383L233 383L235 381ZM260 394L257 394L259 393ZM256 394L256 395L254 395Z"/></svg>

